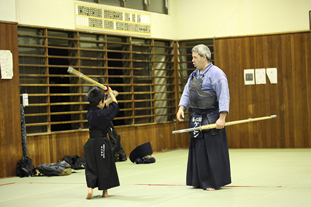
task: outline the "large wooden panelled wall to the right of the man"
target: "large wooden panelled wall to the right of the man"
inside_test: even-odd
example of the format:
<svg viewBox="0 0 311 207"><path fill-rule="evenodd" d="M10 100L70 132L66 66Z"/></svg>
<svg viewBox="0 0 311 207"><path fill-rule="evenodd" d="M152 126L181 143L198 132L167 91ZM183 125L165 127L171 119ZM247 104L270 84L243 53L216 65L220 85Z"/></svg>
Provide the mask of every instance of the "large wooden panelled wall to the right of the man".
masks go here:
<svg viewBox="0 0 311 207"><path fill-rule="evenodd" d="M227 74L226 121L276 114L227 127L230 148L311 147L311 33L215 39L215 65ZM277 68L277 84L244 85L244 69Z"/></svg>

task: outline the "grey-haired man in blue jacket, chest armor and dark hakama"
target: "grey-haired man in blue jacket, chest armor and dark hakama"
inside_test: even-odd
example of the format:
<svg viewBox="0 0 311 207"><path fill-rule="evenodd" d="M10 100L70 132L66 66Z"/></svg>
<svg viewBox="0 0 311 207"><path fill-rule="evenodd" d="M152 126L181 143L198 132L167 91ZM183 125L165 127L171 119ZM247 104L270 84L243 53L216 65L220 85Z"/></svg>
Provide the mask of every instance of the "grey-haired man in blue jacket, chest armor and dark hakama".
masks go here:
<svg viewBox="0 0 311 207"><path fill-rule="evenodd" d="M216 123L216 129L191 132L187 165L187 185L211 191L231 183L225 129L230 102L228 80L210 62L207 46L194 46L192 57L196 69L189 76L176 116L184 121L184 111L190 106L193 109L190 128Z"/></svg>

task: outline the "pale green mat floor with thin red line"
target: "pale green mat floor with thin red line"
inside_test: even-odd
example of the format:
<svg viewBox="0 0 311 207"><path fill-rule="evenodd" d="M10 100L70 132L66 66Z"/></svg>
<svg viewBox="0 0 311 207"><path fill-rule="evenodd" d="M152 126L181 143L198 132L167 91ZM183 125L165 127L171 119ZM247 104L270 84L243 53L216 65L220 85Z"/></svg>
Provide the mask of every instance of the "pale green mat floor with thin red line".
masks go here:
<svg viewBox="0 0 311 207"><path fill-rule="evenodd" d="M117 162L120 186L86 200L84 170L0 179L0 207L310 207L311 149L230 149L232 183L186 186L188 150L154 153L156 163Z"/></svg>

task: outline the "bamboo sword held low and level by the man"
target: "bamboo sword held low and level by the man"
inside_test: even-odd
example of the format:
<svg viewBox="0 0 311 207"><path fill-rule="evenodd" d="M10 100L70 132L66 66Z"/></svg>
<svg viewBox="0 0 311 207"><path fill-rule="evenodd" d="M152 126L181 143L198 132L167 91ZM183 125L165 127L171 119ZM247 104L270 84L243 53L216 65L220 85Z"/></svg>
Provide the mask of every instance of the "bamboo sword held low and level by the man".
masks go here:
<svg viewBox="0 0 311 207"><path fill-rule="evenodd" d="M230 125L234 125L234 124L242 124L242 123L253 122L253 121L261 121L261 120L273 119L273 118L276 118L276 115L264 116L264 117L253 118L253 119L249 118L249 119L244 119L244 120L239 120L239 121L226 122L225 126L230 126ZM198 131L198 130L200 130L202 132L202 130L214 129L214 128L216 128L216 124L208 124L208 125L203 125L203 126L189 128L189 129L177 130L177 131L173 131L172 133L173 134L180 134L180 133L192 132L192 131Z"/></svg>

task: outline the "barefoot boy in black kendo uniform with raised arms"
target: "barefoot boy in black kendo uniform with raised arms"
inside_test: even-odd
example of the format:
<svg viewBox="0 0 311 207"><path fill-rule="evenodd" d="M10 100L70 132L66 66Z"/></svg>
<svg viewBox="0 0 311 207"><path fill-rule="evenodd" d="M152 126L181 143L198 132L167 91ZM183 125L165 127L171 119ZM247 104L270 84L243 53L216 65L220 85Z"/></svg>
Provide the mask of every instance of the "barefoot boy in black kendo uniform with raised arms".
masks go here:
<svg viewBox="0 0 311 207"><path fill-rule="evenodd" d="M108 87L108 94L112 101L109 107L105 106L105 93L102 89L93 88L87 94L87 100L92 107L86 113L90 130L90 138L84 145L85 176L88 187L86 199L92 199L93 189L96 187L98 190L103 190L103 197L107 198L108 189L120 185L114 156L107 138L109 123L117 116L119 106L110 87Z"/></svg>

